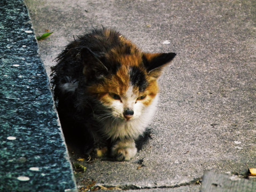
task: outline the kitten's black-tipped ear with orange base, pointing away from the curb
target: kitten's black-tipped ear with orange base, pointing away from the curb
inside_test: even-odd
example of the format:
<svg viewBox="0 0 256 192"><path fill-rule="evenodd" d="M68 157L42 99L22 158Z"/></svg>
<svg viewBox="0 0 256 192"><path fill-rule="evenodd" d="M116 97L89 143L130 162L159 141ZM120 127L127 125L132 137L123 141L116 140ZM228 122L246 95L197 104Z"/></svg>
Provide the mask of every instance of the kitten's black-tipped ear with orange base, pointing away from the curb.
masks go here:
<svg viewBox="0 0 256 192"><path fill-rule="evenodd" d="M148 74L153 78L158 78L162 74L163 68L173 60L176 53L143 53L143 64Z"/></svg>

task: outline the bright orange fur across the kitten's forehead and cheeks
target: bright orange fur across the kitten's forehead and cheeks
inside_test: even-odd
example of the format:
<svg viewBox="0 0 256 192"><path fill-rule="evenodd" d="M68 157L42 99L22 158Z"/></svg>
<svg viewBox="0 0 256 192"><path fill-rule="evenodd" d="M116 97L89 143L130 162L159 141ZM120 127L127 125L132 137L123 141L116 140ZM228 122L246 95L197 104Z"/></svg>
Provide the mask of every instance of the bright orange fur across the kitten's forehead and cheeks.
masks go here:
<svg viewBox="0 0 256 192"><path fill-rule="evenodd" d="M110 31L106 30L105 35L110 36ZM147 95L147 97L140 102L145 106L149 106L158 93L157 78L155 75L148 74L145 67L142 64L142 52L133 45L129 40L125 39L122 35L119 37L121 42L126 46L113 48L106 57L111 61L117 61L121 63L121 68L110 79L105 79L105 82L100 85L94 85L90 87L89 91L95 95L105 105L110 105L113 102L113 98L109 96L109 93L115 93L119 96L125 95L127 89L130 86L130 67L139 67L141 71L145 73L146 79L149 83L145 92L140 93L138 87L134 87L133 93L138 94L138 97ZM131 54L125 53L126 47L130 47ZM145 53L148 60L154 59L158 53L151 54Z"/></svg>

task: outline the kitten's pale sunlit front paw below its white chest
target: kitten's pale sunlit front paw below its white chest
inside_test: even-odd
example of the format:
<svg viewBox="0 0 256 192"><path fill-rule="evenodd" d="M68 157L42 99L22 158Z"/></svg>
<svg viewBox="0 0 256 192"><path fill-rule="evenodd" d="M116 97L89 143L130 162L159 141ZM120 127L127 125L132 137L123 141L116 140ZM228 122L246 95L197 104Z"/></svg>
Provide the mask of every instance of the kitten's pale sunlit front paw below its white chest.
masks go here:
<svg viewBox="0 0 256 192"><path fill-rule="evenodd" d="M116 161L129 161L137 154L134 140L117 141L111 148L111 155Z"/></svg>

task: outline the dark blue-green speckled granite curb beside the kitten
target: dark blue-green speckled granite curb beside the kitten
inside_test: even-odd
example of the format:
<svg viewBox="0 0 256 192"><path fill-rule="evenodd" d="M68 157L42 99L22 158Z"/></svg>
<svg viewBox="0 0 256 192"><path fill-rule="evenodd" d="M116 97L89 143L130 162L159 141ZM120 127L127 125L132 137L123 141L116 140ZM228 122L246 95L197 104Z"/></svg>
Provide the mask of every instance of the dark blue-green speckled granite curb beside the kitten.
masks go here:
<svg viewBox="0 0 256 192"><path fill-rule="evenodd" d="M25 3L0 18L0 191L77 191Z"/></svg>

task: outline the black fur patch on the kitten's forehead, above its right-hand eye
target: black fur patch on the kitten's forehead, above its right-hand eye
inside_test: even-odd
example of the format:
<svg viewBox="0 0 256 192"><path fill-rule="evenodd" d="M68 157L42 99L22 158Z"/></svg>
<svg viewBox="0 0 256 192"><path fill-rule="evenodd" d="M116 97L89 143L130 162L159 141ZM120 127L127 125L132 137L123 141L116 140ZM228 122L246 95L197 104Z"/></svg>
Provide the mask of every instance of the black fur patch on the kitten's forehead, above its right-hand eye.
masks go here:
<svg viewBox="0 0 256 192"><path fill-rule="evenodd" d="M145 91L148 86L145 74L138 67L131 67L130 81L132 85L139 87L140 92Z"/></svg>

